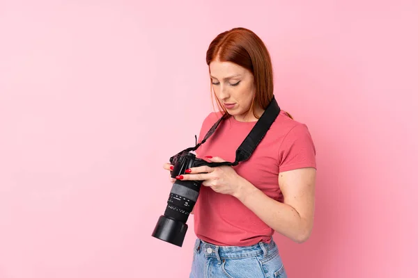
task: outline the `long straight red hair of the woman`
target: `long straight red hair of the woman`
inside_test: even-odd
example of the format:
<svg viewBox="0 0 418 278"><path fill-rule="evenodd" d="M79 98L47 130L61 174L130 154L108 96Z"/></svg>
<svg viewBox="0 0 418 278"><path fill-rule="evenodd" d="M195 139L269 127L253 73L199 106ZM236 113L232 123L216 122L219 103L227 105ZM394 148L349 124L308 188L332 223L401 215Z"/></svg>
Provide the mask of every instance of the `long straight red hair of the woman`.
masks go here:
<svg viewBox="0 0 418 278"><path fill-rule="evenodd" d="M256 88L251 108L254 105L263 110L267 108L274 91L272 61L267 47L256 33L247 28L233 28L220 33L210 42L206 51L206 63L210 65L213 60L235 63L249 70L254 76ZM212 83L210 84L213 92ZM228 114L217 97L216 101L219 110ZM257 115L254 116L258 118Z"/></svg>

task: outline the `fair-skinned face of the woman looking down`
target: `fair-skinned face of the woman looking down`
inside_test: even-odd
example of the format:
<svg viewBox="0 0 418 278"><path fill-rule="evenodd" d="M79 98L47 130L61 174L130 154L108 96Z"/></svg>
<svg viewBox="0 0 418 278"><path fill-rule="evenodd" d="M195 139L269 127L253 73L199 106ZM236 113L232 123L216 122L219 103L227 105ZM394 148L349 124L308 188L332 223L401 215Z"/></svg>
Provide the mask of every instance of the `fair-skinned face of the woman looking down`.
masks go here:
<svg viewBox="0 0 418 278"><path fill-rule="evenodd" d="M254 76L249 70L231 62L214 60L209 65L213 90L222 106L236 120L256 120L251 103L256 92Z"/></svg>

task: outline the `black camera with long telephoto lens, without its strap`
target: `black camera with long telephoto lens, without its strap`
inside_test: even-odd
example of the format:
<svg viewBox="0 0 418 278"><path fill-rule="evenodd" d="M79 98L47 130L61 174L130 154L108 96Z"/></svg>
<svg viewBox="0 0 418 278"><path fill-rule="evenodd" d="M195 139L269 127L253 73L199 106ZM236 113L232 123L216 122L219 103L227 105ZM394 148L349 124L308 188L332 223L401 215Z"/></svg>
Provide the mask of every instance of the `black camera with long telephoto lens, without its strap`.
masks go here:
<svg viewBox="0 0 418 278"><path fill-rule="evenodd" d="M171 177L185 174L191 167L208 165L207 161L196 158L192 152L183 151L170 158ZM202 181L181 181L177 179L171 187L164 215L158 218L152 236L181 247L187 232L187 219L192 212Z"/></svg>

